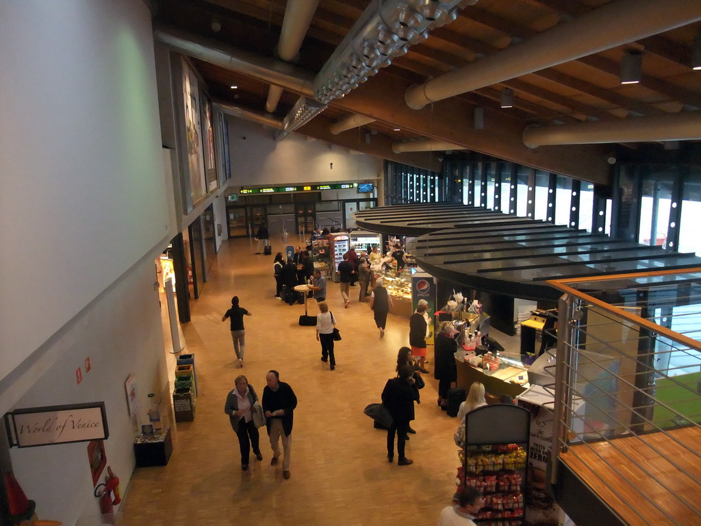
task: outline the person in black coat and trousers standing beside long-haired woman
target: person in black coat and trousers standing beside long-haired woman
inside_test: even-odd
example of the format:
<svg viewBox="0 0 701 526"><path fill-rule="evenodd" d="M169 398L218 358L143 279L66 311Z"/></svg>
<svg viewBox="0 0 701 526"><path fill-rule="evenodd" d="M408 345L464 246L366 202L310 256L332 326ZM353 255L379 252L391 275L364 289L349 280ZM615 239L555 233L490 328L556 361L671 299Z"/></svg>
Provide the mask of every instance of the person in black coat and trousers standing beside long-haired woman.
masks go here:
<svg viewBox="0 0 701 526"><path fill-rule="evenodd" d="M382 403L392 415L392 425L387 430L387 459L394 460L394 438L397 435L397 466L409 466L414 461L407 459L404 445L407 442L409 422L414 419L414 400L418 400L418 389L414 385L414 367L402 365L399 377L390 378L382 391Z"/></svg>

